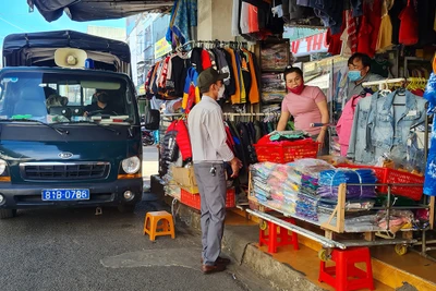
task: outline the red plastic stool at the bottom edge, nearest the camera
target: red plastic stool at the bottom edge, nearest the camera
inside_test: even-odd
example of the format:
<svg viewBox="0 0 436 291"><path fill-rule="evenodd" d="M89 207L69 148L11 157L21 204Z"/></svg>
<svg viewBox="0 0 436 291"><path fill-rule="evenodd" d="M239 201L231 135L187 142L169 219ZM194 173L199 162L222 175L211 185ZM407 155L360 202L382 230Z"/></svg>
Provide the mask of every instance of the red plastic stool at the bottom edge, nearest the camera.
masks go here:
<svg viewBox="0 0 436 291"><path fill-rule="evenodd" d="M328 283L337 291L351 291L365 288L374 290L373 268L371 267L368 247L334 250L331 260L336 263L336 266L326 267L326 263L320 262L318 281ZM366 271L356 268L354 266L356 263L365 263ZM353 279L350 277L353 277Z"/></svg>

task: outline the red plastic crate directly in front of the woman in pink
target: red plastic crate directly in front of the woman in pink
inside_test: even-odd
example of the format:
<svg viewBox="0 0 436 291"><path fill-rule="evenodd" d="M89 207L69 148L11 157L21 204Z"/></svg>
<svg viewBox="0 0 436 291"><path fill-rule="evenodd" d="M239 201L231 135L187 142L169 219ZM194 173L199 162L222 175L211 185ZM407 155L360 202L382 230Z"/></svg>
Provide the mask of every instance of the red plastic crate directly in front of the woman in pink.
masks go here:
<svg viewBox="0 0 436 291"><path fill-rule="evenodd" d="M312 138L295 142L269 142L254 145L257 160L287 163L302 158L316 158L318 143Z"/></svg>

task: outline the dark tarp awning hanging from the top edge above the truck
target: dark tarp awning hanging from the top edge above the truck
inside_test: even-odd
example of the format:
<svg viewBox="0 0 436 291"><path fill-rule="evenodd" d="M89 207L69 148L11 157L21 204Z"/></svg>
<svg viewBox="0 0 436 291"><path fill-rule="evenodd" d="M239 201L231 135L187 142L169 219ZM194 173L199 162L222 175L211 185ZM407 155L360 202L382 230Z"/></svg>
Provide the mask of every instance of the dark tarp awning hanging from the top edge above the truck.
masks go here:
<svg viewBox="0 0 436 291"><path fill-rule="evenodd" d="M27 0L31 9L36 7L48 22L65 12L73 21L122 19L142 12L168 11L174 0Z"/></svg>

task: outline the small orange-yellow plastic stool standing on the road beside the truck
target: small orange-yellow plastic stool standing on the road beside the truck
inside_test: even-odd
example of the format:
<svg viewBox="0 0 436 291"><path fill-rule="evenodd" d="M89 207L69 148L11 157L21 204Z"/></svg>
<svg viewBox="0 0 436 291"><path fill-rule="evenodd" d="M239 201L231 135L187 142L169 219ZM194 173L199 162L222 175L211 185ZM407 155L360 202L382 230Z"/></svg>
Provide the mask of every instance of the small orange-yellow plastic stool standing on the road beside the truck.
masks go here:
<svg viewBox="0 0 436 291"><path fill-rule="evenodd" d="M158 222L161 221L160 226ZM174 233L174 221L172 220L172 215L167 211L153 211L147 213L144 222L144 235L147 233L150 241L155 241L158 235L169 235L171 239L175 238Z"/></svg>

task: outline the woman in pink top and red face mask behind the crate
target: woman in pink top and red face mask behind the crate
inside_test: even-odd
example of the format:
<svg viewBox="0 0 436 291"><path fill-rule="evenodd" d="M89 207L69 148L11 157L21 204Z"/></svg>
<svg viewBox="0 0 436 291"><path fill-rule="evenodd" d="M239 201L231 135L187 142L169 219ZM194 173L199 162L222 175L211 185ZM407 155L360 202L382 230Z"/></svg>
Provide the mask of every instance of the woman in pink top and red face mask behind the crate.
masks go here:
<svg viewBox="0 0 436 291"><path fill-rule="evenodd" d="M323 148L327 126L311 128L311 123L329 122L326 96L318 87L304 85L303 72L299 68L287 66L284 80L289 93L281 102L281 117L277 130L284 131L292 116L295 130L311 134L319 143L319 148Z"/></svg>

